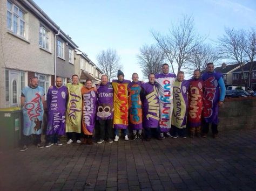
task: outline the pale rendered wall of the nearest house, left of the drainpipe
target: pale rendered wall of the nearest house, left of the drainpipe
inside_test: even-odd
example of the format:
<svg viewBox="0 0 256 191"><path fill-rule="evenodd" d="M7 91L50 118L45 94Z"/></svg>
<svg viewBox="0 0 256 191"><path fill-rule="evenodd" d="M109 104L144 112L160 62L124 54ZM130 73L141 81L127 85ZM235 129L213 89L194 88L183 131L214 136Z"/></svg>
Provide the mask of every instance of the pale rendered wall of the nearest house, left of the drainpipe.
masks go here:
<svg viewBox="0 0 256 191"><path fill-rule="evenodd" d="M5 77L5 69L23 70L54 75L53 45L54 35L49 31L49 51L39 47L39 19L25 6L14 1L15 4L26 12L25 14L25 39L16 36L7 29L6 0L0 0L0 75ZM28 83L25 84L28 86ZM0 81L0 108L5 105L5 80Z"/></svg>

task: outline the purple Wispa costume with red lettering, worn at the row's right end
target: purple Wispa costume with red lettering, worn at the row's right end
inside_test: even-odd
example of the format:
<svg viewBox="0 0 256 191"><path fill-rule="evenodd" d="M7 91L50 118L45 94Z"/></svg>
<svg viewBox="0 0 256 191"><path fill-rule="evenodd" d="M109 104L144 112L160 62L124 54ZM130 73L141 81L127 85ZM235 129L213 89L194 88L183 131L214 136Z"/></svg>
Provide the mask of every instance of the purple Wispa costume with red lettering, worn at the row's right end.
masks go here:
<svg viewBox="0 0 256 191"><path fill-rule="evenodd" d="M222 74L204 73L202 79L204 80L204 97L203 97L203 117L206 123L218 124L218 112L219 112L219 97L220 86L219 79Z"/></svg>

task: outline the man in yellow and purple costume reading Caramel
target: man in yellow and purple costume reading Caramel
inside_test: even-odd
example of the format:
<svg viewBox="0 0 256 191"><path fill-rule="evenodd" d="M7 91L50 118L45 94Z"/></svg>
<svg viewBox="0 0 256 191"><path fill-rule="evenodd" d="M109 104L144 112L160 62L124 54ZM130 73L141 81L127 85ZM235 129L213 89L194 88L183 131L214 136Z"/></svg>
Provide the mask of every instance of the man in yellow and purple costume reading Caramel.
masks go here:
<svg viewBox="0 0 256 191"><path fill-rule="evenodd" d="M173 112L172 112L172 136L177 138L181 136L186 138L187 108L188 98L187 91L190 82L184 80L184 72L179 71L177 80L173 83Z"/></svg>

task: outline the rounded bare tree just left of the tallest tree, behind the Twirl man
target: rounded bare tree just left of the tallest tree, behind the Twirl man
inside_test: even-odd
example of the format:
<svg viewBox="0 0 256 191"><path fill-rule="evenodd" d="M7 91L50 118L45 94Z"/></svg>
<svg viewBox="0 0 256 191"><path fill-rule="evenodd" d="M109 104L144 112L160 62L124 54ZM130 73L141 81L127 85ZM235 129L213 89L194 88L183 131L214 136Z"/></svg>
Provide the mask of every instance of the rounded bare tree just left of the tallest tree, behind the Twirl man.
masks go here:
<svg viewBox="0 0 256 191"><path fill-rule="evenodd" d="M137 55L138 63L142 68L142 73L147 77L150 73L160 73L161 66L164 63L164 53L156 45L144 45L140 48L140 53Z"/></svg>

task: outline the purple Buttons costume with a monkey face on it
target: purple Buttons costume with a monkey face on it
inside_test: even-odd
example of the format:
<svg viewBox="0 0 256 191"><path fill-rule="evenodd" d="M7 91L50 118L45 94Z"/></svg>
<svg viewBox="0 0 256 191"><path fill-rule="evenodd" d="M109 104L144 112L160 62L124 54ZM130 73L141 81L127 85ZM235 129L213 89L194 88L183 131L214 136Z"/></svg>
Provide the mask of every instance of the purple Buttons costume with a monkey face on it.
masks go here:
<svg viewBox="0 0 256 191"><path fill-rule="evenodd" d="M97 86L98 91L98 106L96 118L97 120L102 119L113 119L113 87L110 82L103 85Z"/></svg>

